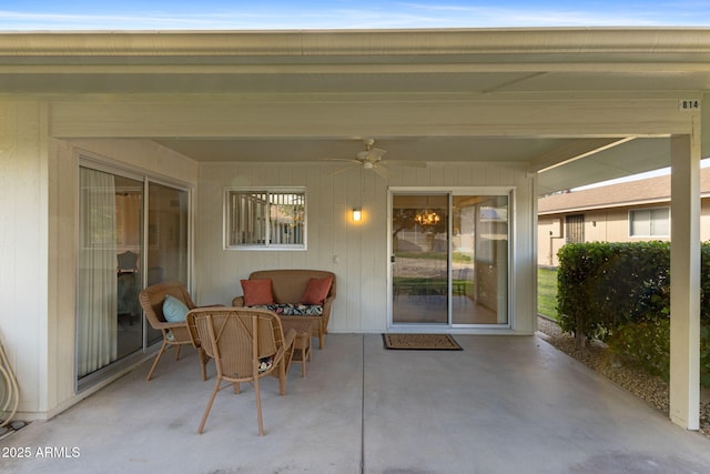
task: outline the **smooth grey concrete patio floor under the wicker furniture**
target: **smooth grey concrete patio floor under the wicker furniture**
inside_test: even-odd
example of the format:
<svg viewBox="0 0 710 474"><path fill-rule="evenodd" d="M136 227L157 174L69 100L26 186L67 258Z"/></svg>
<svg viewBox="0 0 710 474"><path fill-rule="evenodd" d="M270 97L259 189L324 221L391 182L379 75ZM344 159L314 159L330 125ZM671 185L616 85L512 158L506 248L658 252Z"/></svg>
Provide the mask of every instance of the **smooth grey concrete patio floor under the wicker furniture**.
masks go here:
<svg viewBox="0 0 710 474"><path fill-rule="evenodd" d="M708 473L710 441L536 336L456 335L464 351L387 351L329 334L288 394L217 394L194 351L148 363L3 441L12 473ZM172 354L169 354L172 355ZM8 457L29 447L29 458ZM63 457L38 457L44 447ZM63 450L62 450L63 448ZM77 448L72 452L72 448ZM14 450L17 452L17 450ZM72 454L73 453L73 454Z"/></svg>

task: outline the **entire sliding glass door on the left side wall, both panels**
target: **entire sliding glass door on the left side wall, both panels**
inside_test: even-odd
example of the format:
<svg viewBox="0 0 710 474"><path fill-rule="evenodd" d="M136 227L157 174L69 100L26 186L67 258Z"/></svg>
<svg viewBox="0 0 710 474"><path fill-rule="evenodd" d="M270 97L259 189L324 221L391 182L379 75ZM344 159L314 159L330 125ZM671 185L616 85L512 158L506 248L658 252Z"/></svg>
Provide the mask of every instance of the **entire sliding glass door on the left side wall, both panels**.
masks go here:
<svg viewBox="0 0 710 474"><path fill-rule="evenodd" d="M139 293L166 280L189 283L189 191L99 165L80 167L79 177L81 389L160 339L142 317Z"/></svg>

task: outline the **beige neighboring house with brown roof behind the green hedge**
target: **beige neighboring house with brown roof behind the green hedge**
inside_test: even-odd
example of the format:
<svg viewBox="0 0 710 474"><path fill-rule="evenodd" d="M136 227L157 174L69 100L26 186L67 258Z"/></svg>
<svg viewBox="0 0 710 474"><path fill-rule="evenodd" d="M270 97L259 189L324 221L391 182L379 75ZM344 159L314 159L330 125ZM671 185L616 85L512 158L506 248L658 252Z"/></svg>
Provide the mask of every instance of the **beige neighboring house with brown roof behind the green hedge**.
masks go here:
<svg viewBox="0 0 710 474"><path fill-rule="evenodd" d="M710 169L700 173L700 240L710 240ZM538 199L537 263L557 266L570 242L670 240L670 175Z"/></svg>

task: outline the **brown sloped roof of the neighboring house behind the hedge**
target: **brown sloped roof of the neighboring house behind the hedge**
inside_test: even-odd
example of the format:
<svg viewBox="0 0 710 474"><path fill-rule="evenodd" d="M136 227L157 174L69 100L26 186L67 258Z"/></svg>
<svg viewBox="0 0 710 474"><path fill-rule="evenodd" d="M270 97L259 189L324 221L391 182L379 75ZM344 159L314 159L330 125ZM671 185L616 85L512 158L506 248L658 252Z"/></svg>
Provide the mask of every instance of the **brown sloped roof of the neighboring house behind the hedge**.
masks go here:
<svg viewBox="0 0 710 474"><path fill-rule="evenodd" d="M710 195L710 168L700 172L701 195ZM633 180L579 191L567 191L538 199L538 214L670 202L670 175Z"/></svg>

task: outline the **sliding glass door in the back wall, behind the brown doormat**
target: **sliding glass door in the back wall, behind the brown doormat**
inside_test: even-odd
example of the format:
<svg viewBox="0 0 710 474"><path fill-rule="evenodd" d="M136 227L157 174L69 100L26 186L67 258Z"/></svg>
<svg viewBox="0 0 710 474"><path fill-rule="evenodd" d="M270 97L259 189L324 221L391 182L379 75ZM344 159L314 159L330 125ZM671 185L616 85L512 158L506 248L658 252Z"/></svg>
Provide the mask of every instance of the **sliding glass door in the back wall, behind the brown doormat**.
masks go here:
<svg viewBox="0 0 710 474"><path fill-rule="evenodd" d="M508 194L393 192L392 324L508 324Z"/></svg>

